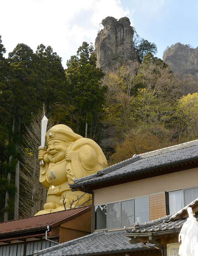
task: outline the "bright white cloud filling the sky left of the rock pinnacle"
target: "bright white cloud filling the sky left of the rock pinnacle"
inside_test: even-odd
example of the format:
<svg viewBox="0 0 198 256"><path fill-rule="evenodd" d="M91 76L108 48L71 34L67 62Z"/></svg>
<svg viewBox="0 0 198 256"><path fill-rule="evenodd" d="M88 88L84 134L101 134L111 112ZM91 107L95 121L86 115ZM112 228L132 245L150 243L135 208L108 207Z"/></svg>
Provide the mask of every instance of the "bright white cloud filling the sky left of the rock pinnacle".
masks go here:
<svg viewBox="0 0 198 256"><path fill-rule="evenodd" d="M17 43L34 51L43 43L63 58L64 66L83 41L94 44L102 19L129 14L119 0L7 0L1 8L0 34L7 53Z"/></svg>

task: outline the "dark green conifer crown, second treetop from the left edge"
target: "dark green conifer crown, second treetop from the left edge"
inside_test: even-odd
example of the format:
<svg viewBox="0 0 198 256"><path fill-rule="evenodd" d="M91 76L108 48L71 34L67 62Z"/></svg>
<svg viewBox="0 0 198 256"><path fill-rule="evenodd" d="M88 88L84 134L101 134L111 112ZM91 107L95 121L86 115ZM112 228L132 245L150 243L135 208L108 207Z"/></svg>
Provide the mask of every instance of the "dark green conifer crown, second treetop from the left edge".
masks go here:
<svg viewBox="0 0 198 256"><path fill-rule="evenodd" d="M31 113L38 107L35 88L36 58L32 49L25 44L18 44L8 55L13 71L10 79L11 91L14 95L12 118L15 118L18 124L28 124Z"/></svg>

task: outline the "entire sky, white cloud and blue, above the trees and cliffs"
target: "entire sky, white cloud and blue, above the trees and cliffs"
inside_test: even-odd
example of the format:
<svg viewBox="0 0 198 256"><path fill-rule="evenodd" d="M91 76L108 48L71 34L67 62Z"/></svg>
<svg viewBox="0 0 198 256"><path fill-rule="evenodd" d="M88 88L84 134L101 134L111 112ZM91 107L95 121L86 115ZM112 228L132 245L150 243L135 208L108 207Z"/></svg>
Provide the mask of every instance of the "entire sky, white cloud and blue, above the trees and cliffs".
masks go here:
<svg viewBox="0 0 198 256"><path fill-rule="evenodd" d="M198 46L198 1L191 0L3 0L0 35L5 57L18 43L36 52L41 43L62 57L62 65L83 41L94 44L107 16L127 16L140 37L157 45L162 59L177 42Z"/></svg>

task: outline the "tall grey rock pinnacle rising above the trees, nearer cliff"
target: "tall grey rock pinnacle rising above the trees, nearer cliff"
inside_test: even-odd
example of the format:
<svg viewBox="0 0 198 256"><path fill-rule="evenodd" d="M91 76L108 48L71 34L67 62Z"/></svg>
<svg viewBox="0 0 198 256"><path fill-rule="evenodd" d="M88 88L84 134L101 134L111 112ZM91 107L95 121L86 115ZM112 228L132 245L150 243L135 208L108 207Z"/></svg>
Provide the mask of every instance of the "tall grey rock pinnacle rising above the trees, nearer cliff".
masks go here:
<svg viewBox="0 0 198 256"><path fill-rule="evenodd" d="M102 29L95 40L95 54L97 67L104 72L121 67L127 61L134 61L138 54L133 47L134 31L127 17L118 21L114 17L106 17L102 20Z"/></svg>

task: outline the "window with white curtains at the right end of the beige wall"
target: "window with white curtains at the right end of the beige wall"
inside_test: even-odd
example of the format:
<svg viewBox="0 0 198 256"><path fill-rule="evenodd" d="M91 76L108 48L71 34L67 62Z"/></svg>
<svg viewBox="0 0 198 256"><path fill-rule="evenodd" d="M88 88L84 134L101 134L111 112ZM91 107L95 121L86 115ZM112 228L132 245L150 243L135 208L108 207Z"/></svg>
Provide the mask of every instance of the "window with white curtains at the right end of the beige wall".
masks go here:
<svg viewBox="0 0 198 256"><path fill-rule="evenodd" d="M198 187L168 193L169 213L176 213L198 197Z"/></svg>

